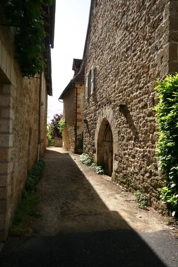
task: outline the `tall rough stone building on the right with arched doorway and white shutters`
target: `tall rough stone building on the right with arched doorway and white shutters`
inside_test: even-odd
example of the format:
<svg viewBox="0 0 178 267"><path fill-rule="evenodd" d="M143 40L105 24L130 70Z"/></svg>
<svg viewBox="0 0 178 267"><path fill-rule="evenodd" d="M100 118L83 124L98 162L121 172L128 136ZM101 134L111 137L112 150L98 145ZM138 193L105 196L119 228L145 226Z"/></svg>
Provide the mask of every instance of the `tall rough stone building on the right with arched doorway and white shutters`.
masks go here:
<svg viewBox="0 0 178 267"><path fill-rule="evenodd" d="M160 206L156 78L178 70L178 2L91 0L85 61L84 152L112 180Z"/></svg>

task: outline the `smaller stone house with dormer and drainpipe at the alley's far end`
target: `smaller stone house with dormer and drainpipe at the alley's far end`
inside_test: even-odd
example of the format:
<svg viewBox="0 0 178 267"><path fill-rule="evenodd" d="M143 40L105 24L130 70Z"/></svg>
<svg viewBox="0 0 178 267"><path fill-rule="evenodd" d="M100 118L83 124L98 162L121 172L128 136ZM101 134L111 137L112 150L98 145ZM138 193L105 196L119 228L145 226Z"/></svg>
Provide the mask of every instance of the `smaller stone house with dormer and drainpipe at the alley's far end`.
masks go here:
<svg viewBox="0 0 178 267"><path fill-rule="evenodd" d="M63 148L76 152L78 138L83 135L83 102L84 102L84 61L73 59L74 77L59 97L63 100L63 117L66 126L63 129Z"/></svg>

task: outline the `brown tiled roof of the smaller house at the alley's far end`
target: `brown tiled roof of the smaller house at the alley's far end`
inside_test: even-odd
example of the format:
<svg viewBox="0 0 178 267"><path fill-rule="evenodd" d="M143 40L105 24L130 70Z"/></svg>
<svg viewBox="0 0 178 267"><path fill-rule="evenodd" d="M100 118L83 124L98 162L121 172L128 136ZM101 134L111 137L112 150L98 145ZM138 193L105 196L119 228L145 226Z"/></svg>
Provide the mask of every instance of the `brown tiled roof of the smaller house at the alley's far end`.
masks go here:
<svg viewBox="0 0 178 267"><path fill-rule="evenodd" d="M77 73L75 77L72 78L72 80L70 80L70 82L65 87L64 91L61 93L58 99L64 100L65 94L68 92L68 90L70 90L73 87L72 83L83 83L84 84L84 80L85 80L85 61L82 61L79 72Z"/></svg>

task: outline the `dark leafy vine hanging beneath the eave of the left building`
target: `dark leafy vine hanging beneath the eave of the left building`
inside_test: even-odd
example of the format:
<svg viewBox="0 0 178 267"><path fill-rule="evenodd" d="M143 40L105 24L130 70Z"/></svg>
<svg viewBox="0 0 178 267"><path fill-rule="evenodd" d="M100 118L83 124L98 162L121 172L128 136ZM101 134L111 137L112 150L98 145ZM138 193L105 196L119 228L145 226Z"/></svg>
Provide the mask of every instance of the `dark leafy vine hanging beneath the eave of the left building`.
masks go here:
<svg viewBox="0 0 178 267"><path fill-rule="evenodd" d="M52 4L52 0L45 1ZM0 0L9 25L16 26L15 45L23 76L35 76L43 71L45 62L45 29L41 13L42 0Z"/></svg>

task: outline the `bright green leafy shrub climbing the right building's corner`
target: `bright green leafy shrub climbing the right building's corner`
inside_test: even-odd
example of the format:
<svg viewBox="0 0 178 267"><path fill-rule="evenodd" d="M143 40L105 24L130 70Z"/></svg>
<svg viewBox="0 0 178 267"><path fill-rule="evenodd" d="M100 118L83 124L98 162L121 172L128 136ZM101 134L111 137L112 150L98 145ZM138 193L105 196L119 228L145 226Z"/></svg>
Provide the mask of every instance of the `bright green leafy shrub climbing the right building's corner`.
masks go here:
<svg viewBox="0 0 178 267"><path fill-rule="evenodd" d="M160 99L154 110L158 120L160 139L156 150L158 170L167 175L168 182L161 190L162 203L172 208L172 216L178 213L178 74L166 75L158 81L157 96Z"/></svg>

